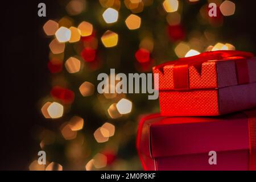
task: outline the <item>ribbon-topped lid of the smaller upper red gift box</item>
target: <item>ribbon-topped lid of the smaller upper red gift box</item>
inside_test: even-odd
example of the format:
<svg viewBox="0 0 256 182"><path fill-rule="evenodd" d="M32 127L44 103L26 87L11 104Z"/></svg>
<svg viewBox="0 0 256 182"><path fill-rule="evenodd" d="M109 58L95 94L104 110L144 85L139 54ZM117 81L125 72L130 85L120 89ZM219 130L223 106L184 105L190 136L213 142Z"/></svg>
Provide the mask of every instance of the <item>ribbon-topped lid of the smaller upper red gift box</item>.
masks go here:
<svg viewBox="0 0 256 182"><path fill-rule="evenodd" d="M242 51L203 52L152 69L159 74L159 85L155 85L159 90L216 89L256 82L256 59Z"/></svg>

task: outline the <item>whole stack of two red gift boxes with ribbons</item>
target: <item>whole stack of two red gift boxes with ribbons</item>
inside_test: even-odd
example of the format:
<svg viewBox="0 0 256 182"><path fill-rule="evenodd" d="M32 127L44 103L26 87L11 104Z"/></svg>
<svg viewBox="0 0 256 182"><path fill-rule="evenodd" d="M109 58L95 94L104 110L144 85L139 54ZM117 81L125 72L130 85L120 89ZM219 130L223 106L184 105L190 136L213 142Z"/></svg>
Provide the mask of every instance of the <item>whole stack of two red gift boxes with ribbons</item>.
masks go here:
<svg viewBox="0 0 256 182"><path fill-rule="evenodd" d="M142 118L137 136L145 170L256 169L253 54L204 52L153 72L160 113Z"/></svg>

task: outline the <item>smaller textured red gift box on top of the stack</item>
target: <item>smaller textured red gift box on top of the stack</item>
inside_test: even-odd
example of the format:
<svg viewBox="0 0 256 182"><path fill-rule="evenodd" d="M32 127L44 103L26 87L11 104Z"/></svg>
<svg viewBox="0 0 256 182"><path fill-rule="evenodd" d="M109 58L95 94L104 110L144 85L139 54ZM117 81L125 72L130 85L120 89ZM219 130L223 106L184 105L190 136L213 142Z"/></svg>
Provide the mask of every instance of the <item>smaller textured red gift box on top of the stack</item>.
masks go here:
<svg viewBox="0 0 256 182"><path fill-rule="evenodd" d="M209 116L256 107L256 59L241 51L212 51L153 68L165 116ZM156 82L156 81L155 81Z"/></svg>

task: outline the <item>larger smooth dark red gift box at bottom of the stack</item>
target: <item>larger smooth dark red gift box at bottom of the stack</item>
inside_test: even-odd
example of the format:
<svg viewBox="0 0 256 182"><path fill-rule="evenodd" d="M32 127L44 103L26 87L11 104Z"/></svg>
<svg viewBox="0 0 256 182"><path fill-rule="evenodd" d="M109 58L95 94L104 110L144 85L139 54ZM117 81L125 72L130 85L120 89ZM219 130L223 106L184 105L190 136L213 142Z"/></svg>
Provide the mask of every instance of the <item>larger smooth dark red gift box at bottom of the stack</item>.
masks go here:
<svg viewBox="0 0 256 182"><path fill-rule="evenodd" d="M255 171L256 109L221 117L148 115L139 123L137 150L144 170Z"/></svg>

